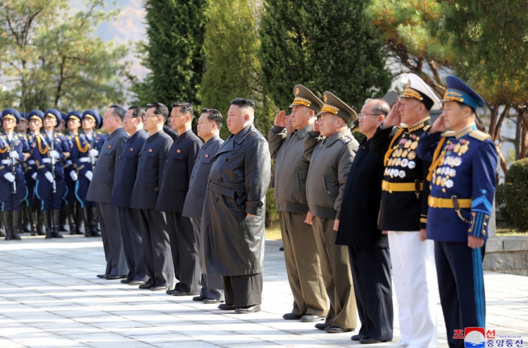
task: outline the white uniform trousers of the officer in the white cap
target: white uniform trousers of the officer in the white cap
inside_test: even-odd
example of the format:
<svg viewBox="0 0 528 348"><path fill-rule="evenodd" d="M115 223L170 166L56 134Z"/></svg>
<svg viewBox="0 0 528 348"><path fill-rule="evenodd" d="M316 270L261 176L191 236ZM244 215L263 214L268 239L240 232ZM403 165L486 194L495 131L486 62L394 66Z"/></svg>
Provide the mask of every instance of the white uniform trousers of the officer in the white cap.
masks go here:
<svg viewBox="0 0 528 348"><path fill-rule="evenodd" d="M434 241L420 231L389 231L394 292L398 301L401 341L409 348L436 348L438 283Z"/></svg>

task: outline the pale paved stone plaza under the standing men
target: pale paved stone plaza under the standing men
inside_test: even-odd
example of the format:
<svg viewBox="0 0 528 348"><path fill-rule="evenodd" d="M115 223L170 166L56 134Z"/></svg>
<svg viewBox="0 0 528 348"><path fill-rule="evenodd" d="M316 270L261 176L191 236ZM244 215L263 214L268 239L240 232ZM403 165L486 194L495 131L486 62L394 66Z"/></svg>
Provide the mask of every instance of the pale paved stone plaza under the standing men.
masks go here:
<svg viewBox="0 0 528 348"><path fill-rule="evenodd" d="M215 304L96 278L101 238L0 241L0 347L348 347L351 333L285 321L291 310L284 257L266 247L263 311L234 314ZM528 339L528 277L487 272L487 327ZM396 306L396 301L395 301ZM439 347L447 347L439 309ZM359 323L359 320L358 320ZM399 338L397 308L394 341ZM374 344L384 347L386 343ZM524 342L528 347L528 342Z"/></svg>

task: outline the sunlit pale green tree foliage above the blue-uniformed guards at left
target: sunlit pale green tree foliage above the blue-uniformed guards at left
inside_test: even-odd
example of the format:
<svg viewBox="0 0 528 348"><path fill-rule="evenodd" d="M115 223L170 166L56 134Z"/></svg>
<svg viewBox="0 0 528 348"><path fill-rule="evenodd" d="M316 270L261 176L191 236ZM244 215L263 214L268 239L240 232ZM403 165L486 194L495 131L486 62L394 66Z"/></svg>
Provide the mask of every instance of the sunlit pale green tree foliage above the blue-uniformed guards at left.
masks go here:
<svg viewBox="0 0 528 348"><path fill-rule="evenodd" d="M67 0L0 2L2 108L98 108L124 101L124 46L94 36L116 11L87 0L70 13Z"/></svg>

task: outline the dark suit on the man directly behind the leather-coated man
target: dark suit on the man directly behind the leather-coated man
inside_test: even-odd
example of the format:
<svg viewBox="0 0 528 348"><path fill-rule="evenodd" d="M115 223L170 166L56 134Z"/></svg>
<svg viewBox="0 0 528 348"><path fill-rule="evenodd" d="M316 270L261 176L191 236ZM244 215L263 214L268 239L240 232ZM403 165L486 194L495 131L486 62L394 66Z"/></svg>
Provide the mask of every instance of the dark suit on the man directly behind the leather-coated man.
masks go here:
<svg viewBox="0 0 528 348"><path fill-rule="evenodd" d="M213 165L213 156L218 148L224 143L220 136L210 138L201 147L198 157L194 162L189 181L189 191L185 198L182 215L189 217L194 228L194 233L199 234L199 253L201 266L201 290L199 297L202 299L216 299L224 301L224 285L221 276L208 275L206 270L206 258L203 247L203 233L201 233L201 215L203 213L203 202L206 199L207 181L210 167Z"/></svg>

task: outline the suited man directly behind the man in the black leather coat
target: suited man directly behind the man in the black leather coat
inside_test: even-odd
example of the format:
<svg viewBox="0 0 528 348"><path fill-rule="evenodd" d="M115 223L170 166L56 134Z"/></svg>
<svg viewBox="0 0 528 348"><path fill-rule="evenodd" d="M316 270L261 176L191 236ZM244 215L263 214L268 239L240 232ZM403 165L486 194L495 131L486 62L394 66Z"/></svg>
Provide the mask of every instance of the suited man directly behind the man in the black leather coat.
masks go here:
<svg viewBox="0 0 528 348"><path fill-rule="evenodd" d="M194 163L189 183L189 192L185 198L183 207L183 216L190 217L194 228L194 234L199 236L199 253L201 264L201 290L200 295L193 297L194 301L203 301L203 303L220 303L224 302L224 284L222 276L207 275L206 259L203 252L203 235L200 232L201 214L203 212L203 200L206 198L207 178L210 167L213 165L213 156L224 142L219 134L222 127L222 114L215 109L201 110L202 114L198 120L198 135L206 143L200 149L198 158Z"/></svg>

